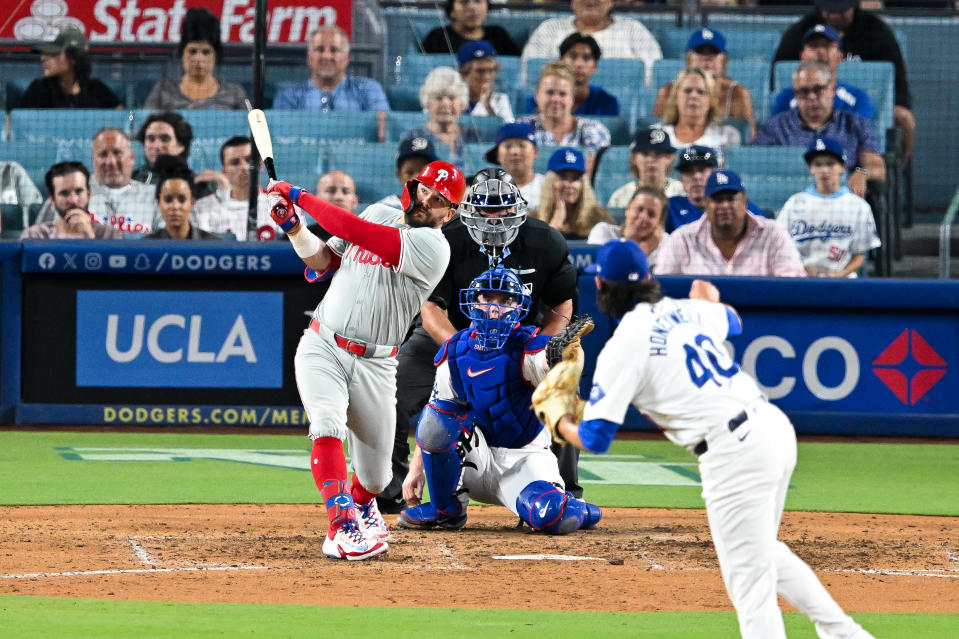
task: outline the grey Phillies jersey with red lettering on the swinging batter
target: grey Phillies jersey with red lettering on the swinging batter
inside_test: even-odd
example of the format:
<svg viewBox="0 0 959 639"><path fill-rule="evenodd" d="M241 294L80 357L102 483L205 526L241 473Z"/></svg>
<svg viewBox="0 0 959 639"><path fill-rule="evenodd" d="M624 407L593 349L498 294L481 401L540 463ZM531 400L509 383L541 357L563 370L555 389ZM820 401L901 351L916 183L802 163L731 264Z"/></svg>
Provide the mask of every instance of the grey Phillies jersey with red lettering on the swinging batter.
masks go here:
<svg viewBox="0 0 959 639"><path fill-rule="evenodd" d="M396 346L436 288L450 261L450 246L439 229L402 224L403 212L372 204L364 220L400 229L399 264L342 238L328 246L340 267L313 316L335 333L371 344Z"/></svg>

